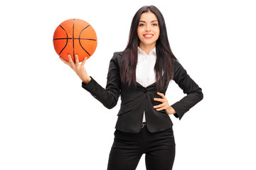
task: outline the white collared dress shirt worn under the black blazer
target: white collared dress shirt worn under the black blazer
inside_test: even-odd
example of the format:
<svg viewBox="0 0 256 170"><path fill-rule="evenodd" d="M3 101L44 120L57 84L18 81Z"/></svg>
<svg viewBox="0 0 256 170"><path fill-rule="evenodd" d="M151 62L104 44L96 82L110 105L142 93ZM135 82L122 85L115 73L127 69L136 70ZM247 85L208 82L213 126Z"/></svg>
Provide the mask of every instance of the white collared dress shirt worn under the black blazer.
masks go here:
<svg viewBox="0 0 256 170"><path fill-rule="evenodd" d="M149 55L138 47L138 62L136 68L136 81L144 87L150 86L156 82L154 65L156 64L156 47ZM142 122L146 122L145 111Z"/></svg>

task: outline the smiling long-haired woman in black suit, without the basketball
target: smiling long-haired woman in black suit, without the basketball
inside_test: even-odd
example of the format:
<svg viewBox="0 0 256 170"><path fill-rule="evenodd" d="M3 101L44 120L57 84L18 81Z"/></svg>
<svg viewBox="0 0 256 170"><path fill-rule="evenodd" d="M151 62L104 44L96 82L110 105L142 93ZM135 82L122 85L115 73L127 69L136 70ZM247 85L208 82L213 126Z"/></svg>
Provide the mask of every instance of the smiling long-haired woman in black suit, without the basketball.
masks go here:
<svg viewBox="0 0 256 170"><path fill-rule="evenodd" d="M61 59L61 58L60 58ZM203 98L201 88L171 52L164 17L155 6L137 11L123 52L114 52L107 74L107 86L87 75L84 64L68 64L82 80L82 87L107 108L122 103L118 113L108 169L136 169L146 154L146 169L170 170L175 157L175 142L169 115L181 119ZM165 92L173 79L187 96L169 106Z"/></svg>

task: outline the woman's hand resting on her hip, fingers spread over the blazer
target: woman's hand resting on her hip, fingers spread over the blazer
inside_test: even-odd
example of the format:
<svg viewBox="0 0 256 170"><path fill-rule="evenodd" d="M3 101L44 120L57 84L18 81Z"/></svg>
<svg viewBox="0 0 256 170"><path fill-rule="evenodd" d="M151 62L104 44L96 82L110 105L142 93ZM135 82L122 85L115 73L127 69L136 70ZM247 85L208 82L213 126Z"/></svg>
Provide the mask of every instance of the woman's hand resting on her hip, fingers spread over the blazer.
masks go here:
<svg viewBox="0 0 256 170"><path fill-rule="evenodd" d="M159 96L161 96L161 98L154 98L154 101L160 101L161 104L154 106L154 108L156 108L156 111L162 111L162 110L166 110L166 113L168 115L174 114L176 113L176 111L174 110L174 108L172 108L171 106L169 106L169 103L167 101L167 98L164 96L164 94L161 94L159 92L157 92L156 94L158 94Z"/></svg>

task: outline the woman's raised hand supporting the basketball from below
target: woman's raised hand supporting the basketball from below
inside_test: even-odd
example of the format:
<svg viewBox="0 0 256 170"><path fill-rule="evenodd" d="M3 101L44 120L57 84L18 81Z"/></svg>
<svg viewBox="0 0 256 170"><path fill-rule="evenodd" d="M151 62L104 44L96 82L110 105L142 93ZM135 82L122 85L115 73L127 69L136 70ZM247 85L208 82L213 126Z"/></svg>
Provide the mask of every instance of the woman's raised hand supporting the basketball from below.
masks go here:
<svg viewBox="0 0 256 170"><path fill-rule="evenodd" d="M67 64L69 67L71 67L71 69L73 69L75 71L75 73L78 74L78 77L82 80L82 82L84 82L85 84L89 83L91 78L88 76L88 74L85 70L85 62L87 60L87 57L85 57L85 59L82 60L81 64L79 63L78 55L75 55L75 63L71 59L70 55L68 55L69 62L64 60L62 57L60 57L60 60L62 60L65 64Z"/></svg>

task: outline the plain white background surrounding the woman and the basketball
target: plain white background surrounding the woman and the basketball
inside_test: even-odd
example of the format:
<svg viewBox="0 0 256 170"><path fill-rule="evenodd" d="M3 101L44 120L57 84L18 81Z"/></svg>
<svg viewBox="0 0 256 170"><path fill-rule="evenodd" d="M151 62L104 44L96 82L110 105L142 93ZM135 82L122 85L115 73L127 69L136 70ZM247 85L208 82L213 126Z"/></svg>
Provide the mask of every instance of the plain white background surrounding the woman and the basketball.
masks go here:
<svg viewBox="0 0 256 170"><path fill-rule="evenodd" d="M69 18L95 28L97 50L85 67L105 87L132 17L151 4L164 15L174 55L204 94L181 120L171 115L174 169L256 169L256 11L250 0L5 1L0 169L107 168L120 100L108 110L82 89L55 53L53 32ZM171 82L166 96L172 104L184 94ZM146 169L144 156L137 169Z"/></svg>

